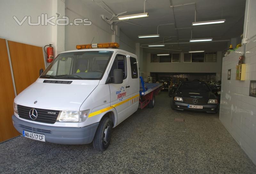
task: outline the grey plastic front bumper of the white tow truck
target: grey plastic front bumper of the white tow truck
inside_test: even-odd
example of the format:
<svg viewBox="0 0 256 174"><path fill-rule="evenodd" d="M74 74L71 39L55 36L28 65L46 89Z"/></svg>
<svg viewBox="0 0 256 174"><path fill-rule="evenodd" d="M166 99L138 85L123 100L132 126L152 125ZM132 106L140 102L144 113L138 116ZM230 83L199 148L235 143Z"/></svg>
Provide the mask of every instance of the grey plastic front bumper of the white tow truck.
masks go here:
<svg viewBox="0 0 256 174"><path fill-rule="evenodd" d="M22 134L23 130L36 134L43 134L46 142L57 144L91 143L99 125L98 122L85 127L46 126L20 120L15 115L12 115L12 121L14 122L14 127L20 134Z"/></svg>

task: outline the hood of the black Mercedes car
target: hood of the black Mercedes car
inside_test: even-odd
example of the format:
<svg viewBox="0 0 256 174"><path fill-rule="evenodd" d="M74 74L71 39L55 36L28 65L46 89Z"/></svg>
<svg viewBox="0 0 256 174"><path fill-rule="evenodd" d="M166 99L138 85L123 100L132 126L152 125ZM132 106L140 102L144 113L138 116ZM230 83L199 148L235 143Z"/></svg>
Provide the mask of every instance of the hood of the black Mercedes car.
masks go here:
<svg viewBox="0 0 256 174"><path fill-rule="evenodd" d="M176 96L187 98L215 98L214 94L211 91L203 90L178 90Z"/></svg>

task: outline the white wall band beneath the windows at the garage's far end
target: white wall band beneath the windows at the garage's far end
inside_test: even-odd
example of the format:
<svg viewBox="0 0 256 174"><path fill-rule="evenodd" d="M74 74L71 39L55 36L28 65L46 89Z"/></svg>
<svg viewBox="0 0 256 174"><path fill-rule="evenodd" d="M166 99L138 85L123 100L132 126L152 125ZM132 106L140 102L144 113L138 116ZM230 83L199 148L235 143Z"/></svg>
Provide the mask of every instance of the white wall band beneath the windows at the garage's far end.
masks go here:
<svg viewBox="0 0 256 174"><path fill-rule="evenodd" d="M183 62L183 53L180 53L180 62L151 63L151 54L147 54L147 72L183 72L183 73L216 73L216 80L221 79L222 52L217 52L217 62Z"/></svg>

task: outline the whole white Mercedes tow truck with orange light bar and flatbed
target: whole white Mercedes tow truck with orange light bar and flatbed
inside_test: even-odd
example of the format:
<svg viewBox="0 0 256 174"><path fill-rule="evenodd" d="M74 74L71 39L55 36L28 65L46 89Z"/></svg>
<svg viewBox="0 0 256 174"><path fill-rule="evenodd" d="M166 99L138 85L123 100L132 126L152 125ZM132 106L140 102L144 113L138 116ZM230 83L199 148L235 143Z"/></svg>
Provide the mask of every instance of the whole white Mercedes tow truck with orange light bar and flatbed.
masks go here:
<svg viewBox="0 0 256 174"><path fill-rule="evenodd" d="M14 127L34 140L92 142L96 150L106 150L112 128L139 105L153 108L162 85L144 83L137 56L118 47L118 43L77 45L77 50L60 53L14 99Z"/></svg>

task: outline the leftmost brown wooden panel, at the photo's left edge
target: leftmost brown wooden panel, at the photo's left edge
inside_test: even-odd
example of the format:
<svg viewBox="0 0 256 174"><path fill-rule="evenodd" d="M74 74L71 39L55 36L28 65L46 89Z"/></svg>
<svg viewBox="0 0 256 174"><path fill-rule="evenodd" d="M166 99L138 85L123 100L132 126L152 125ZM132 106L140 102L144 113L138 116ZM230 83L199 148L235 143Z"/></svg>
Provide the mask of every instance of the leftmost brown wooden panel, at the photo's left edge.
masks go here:
<svg viewBox="0 0 256 174"><path fill-rule="evenodd" d="M0 55L0 142L2 142L20 133L12 125L15 95L5 39L0 39Z"/></svg>

